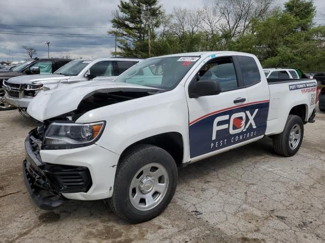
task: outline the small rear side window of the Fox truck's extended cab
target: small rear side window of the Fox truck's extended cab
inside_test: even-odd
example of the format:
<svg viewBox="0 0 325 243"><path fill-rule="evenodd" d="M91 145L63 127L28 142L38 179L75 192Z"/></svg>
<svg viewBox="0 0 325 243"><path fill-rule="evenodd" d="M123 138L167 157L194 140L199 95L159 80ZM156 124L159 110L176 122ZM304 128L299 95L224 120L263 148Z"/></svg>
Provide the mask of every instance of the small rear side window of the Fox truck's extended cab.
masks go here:
<svg viewBox="0 0 325 243"><path fill-rule="evenodd" d="M245 86L250 86L261 82L261 75L259 75L259 70L254 58L238 56L238 61L242 69Z"/></svg>

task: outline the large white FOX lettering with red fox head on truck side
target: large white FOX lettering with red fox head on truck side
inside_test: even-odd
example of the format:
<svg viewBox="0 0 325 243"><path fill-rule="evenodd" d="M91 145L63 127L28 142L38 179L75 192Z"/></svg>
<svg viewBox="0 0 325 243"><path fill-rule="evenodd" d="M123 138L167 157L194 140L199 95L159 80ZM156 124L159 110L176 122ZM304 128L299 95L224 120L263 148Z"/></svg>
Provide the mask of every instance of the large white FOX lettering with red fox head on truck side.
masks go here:
<svg viewBox="0 0 325 243"><path fill-rule="evenodd" d="M220 121L228 120L229 115L221 115L221 116L216 117L213 121L212 140L216 139L217 131L222 130L222 129L229 128L230 134L236 134L236 133L240 133L240 132L245 132L250 125L253 128L256 128L256 125L254 122L254 117L255 117L257 111L258 111L258 109L255 109L253 114L251 114L249 111L235 113L230 117L230 124L218 125L218 123ZM248 118L248 122L245 125L246 116Z"/></svg>

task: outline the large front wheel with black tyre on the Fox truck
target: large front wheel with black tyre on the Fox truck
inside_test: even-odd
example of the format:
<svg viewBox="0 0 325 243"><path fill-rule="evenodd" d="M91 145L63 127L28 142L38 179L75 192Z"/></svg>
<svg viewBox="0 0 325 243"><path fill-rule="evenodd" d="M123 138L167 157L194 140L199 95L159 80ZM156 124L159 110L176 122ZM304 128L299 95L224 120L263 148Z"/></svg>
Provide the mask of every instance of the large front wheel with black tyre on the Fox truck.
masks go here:
<svg viewBox="0 0 325 243"><path fill-rule="evenodd" d="M159 147L140 144L121 158L109 205L120 218L141 223L167 208L176 185L173 157Z"/></svg>

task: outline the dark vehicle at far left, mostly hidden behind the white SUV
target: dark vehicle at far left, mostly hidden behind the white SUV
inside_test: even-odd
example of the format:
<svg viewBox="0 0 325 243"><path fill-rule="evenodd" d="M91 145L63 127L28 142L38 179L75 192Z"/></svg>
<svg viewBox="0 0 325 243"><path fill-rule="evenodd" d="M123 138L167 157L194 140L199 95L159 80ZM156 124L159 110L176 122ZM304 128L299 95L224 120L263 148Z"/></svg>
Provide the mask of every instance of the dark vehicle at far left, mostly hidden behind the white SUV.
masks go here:
<svg viewBox="0 0 325 243"><path fill-rule="evenodd" d="M71 59L58 59L58 58L35 58L32 60L25 61L17 66L13 67L11 70L6 72L0 72L0 111L10 110L15 107L7 104L5 96L5 91L2 87L3 80L8 80L11 77L16 77L20 75L28 74L44 74L44 73L53 73L61 66L70 62Z"/></svg>

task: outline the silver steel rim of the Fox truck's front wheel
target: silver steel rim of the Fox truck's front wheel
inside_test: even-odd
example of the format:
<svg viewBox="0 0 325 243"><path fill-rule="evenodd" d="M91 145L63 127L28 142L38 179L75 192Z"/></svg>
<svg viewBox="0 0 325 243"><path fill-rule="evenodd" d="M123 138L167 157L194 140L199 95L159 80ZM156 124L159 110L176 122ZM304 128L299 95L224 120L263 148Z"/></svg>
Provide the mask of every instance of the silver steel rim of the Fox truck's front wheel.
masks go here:
<svg viewBox="0 0 325 243"><path fill-rule="evenodd" d="M140 211L155 208L165 197L169 185L166 168L158 163L143 166L134 175L129 198L133 207Z"/></svg>

